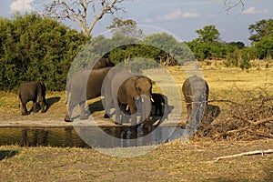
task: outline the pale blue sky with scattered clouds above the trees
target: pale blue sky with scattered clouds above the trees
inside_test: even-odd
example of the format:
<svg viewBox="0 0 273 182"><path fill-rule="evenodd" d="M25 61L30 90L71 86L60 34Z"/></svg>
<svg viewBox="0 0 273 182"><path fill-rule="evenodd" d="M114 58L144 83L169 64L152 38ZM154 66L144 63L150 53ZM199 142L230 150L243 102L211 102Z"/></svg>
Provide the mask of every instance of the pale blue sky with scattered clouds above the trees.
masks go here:
<svg viewBox="0 0 273 182"><path fill-rule="evenodd" d="M48 0L47 0L48 1ZM16 11L24 13L42 11L40 0L2 0L0 16L10 18ZM250 45L248 26L261 19L273 18L273 0L244 0L225 11L224 0L126 0L120 7L126 13L118 13L124 19L133 19L139 25L151 25L176 35L182 41L197 38L197 29L205 25L216 25L220 39L225 42L243 42ZM236 3L238 0L231 0ZM94 29L99 35L111 24L112 16L106 15ZM65 22L77 28L70 22Z"/></svg>

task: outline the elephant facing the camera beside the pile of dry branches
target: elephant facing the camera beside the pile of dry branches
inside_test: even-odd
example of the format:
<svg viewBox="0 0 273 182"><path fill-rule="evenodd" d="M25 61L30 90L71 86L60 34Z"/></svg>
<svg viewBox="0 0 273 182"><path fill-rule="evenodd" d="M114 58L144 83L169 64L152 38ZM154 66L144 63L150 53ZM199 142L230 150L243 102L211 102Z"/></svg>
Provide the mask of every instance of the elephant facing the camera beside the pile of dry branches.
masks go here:
<svg viewBox="0 0 273 182"><path fill-rule="evenodd" d="M207 81L198 76L190 76L183 83L182 92L187 105L187 124L196 127L203 120L207 108Z"/></svg>

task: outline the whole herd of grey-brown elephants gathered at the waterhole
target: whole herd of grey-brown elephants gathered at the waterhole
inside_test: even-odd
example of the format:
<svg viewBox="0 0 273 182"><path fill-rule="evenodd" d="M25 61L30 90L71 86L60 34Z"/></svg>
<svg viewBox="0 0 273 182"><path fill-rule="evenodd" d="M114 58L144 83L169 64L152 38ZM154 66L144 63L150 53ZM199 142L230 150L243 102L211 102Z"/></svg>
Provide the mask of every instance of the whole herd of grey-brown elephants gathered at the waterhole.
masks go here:
<svg viewBox="0 0 273 182"><path fill-rule="evenodd" d="M115 66L108 58L100 58L91 69L78 71L66 83L67 111L64 120L71 122L75 106L80 108L80 119L87 119L86 100L104 96L105 118L111 117L110 109L114 106L116 112L115 123L122 125L131 118L131 126L143 125L151 128L151 107L155 105L155 115L163 116L162 107L168 110L167 96L152 93L152 80L147 76L131 73L124 67ZM207 81L190 76L182 86L187 105L187 123L200 122L207 108ZM26 103L33 101L33 111L37 112L37 104L44 113L48 108L45 101L45 85L39 81L22 83L18 88L18 97L22 104L22 115L27 115ZM137 122L136 111L141 117Z"/></svg>

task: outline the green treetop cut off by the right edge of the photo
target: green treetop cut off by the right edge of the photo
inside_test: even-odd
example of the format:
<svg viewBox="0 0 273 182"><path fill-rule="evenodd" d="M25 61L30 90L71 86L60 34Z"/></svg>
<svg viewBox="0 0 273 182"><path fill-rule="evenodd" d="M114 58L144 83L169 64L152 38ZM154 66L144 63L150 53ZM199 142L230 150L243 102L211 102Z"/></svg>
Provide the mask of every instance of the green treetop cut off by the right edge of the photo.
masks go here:
<svg viewBox="0 0 273 182"><path fill-rule="evenodd" d="M262 19L255 24L249 25L248 30L251 34L248 39L259 42L263 37L269 37L273 34L273 19Z"/></svg>

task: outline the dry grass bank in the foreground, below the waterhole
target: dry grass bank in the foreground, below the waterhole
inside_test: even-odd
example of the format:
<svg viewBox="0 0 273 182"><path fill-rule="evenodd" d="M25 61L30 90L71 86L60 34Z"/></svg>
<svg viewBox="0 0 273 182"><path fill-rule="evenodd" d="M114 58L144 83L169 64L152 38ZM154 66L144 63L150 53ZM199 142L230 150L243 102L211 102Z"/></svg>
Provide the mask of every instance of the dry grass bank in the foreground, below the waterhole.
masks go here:
<svg viewBox="0 0 273 182"><path fill-rule="evenodd" d="M94 148L0 147L6 155L0 161L0 176L4 181L270 181L272 155L212 161L272 144L258 140L181 145L177 140L128 158L109 157Z"/></svg>

